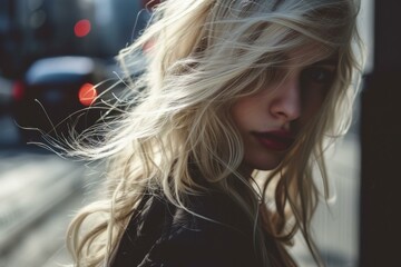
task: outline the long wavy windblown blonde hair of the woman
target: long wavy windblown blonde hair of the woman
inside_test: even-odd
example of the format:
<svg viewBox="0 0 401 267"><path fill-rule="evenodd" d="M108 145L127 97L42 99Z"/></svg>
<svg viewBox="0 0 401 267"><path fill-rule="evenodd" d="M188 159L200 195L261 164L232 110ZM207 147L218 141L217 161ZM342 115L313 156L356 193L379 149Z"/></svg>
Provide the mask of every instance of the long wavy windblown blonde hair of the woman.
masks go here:
<svg viewBox="0 0 401 267"><path fill-rule="evenodd" d="M317 166L327 197L325 140L350 126L361 72L358 12L354 0L162 1L143 34L117 56L128 92L115 105L123 103L123 115L92 129L97 138L88 141L91 130L85 142L78 137L72 144L72 156L107 162L108 185L104 198L69 226L67 246L76 266L113 261L145 192L162 190L192 212L187 196L208 190L199 177L247 214L265 266L296 265L286 245L299 230L323 265L309 233L320 198L312 169ZM320 51L305 59L335 55L338 60L320 111L277 168L257 180L242 176L244 147L231 107L262 90L275 66L285 65L277 56L310 43ZM133 78L138 62L145 67Z"/></svg>

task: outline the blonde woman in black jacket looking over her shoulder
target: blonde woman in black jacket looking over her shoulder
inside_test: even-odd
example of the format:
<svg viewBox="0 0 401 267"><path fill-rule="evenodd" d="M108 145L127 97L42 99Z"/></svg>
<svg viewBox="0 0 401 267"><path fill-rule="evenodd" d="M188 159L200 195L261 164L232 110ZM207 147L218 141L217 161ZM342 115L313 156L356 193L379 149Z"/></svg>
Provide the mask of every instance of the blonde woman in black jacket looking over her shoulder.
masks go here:
<svg viewBox="0 0 401 267"><path fill-rule="evenodd" d="M69 228L76 266L295 266L286 249L299 230L323 265L309 231L312 168L326 185L324 144L350 122L358 9L163 1L118 57L126 112L74 152L108 164L107 194Z"/></svg>

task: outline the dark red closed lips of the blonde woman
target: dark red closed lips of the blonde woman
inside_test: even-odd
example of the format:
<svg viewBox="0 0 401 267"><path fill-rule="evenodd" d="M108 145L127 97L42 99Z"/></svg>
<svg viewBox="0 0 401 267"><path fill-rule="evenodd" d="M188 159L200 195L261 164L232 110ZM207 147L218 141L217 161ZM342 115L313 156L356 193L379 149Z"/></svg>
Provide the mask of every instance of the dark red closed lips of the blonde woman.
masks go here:
<svg viewBox="0 0 401 267"><path fill-rule="evenodd" d="M283 151L291 147L294 142L294 137L288 131L267 131L267 132L253 132L256 139L267 149L275 151Z"/></svg>

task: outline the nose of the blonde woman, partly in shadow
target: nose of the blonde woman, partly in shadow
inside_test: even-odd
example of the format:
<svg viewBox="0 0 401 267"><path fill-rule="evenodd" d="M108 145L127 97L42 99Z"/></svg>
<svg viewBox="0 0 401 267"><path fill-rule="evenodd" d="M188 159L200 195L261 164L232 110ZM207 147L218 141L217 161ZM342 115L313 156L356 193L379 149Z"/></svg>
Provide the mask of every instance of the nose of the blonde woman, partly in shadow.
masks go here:
<svg viewBox="0 0 401 267"><path fill-rule="evenodd" d="M274 117L292 121L301 116L301 91L297 77L287 77L282 81L271 102Z"/></svg>

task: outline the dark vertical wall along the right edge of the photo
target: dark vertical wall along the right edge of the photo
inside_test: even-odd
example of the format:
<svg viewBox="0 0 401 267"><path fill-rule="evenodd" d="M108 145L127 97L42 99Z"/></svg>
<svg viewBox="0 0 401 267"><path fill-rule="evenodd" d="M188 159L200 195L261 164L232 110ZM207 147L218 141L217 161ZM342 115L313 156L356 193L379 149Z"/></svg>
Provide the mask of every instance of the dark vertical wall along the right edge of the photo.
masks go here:
<svg viewBox="0 0 401 267"><path fill-rule="evenodd" d="M400 1L375 1L374 67L362 93L360 266L400 266Z"/></svg>

